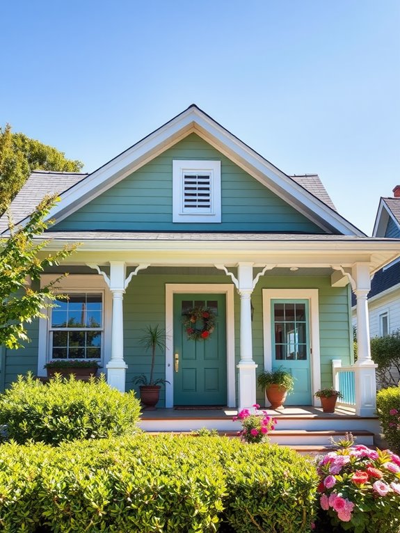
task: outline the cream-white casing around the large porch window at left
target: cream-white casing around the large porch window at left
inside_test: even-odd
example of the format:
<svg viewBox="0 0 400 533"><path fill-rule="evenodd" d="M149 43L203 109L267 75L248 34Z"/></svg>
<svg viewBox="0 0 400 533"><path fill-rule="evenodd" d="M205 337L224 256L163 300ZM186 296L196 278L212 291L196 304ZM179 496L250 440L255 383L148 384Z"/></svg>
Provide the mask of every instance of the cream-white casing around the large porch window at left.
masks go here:
<svg viewBox="0 0 400 533"><path fill-rule="evenodd" d="M40 280L41 287L55 281L59 276L54 274L43 274ZM104 278L96 275L74 275L70 274L60 280L54 292L61 294L102 294L103 300L103 327L102 327L102 357L95 359L104 369L111 358L111 292L107 287ZM39 341L38 341L38 376L45 376L45 364L51 360L51 309L44 311L45 318L39 320Z"/></svg>

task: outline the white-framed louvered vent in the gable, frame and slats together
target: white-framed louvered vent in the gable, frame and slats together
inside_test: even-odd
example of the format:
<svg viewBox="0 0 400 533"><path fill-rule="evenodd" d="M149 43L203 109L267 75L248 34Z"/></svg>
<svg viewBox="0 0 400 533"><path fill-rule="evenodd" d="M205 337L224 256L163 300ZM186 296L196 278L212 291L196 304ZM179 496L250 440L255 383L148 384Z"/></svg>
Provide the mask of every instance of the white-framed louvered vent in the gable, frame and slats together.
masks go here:
<svg viewBox="0 0 400 533"><path fill-rule="evenodd" d="M173 222L221 222L221 161L173 161Z"/></svg>

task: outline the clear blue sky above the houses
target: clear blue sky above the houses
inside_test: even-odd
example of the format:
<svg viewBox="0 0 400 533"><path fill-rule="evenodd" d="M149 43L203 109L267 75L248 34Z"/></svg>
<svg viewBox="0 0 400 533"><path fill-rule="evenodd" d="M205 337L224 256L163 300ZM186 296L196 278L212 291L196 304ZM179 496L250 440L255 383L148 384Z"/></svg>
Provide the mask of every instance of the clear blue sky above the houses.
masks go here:
<svg viewBox="0 0 400 533"><path fill-rule="evenodd" d="M399 0L3 0L0 125L86 171L192 103L371 233L400 184Z"/></svg>

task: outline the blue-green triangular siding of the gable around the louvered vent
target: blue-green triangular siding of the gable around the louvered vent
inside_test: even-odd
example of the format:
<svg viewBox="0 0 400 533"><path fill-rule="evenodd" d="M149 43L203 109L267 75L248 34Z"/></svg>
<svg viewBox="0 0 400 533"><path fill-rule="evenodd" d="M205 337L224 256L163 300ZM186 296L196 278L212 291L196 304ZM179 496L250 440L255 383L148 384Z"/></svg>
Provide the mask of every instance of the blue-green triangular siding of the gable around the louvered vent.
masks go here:
<svg viewBox="0 0 400 533"><path fill-rule="evenodd" d="M173 223L173 159L221 160L221 223ZM115 184L52 230L322 232L195 134Z"/></svg>

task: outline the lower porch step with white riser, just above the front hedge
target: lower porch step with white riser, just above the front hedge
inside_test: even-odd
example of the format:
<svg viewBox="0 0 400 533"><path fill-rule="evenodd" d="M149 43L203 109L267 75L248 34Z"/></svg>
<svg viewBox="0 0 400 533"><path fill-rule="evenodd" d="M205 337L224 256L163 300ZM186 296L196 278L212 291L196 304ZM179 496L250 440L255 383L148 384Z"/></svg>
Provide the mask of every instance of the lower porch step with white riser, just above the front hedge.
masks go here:
<svg viewBox="0 0 400 533"><path fill-rule="evenodd" d="M193 435L191 431L147 431L152 435L165 433L175 433L184 435ZM221 436L237 437L237 431L218 431ZM307 431L307 430L280 430L275 429L269 433L268 437L271 444L294 447L301 452L322 452L326 453L332 450L329 447L330 437L336 441L344 438L346 431ZM356 444L366 446L374 445L374 433L371 431L352 431L356 438Z"/></svg>

